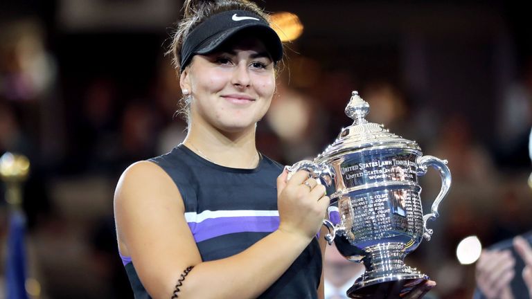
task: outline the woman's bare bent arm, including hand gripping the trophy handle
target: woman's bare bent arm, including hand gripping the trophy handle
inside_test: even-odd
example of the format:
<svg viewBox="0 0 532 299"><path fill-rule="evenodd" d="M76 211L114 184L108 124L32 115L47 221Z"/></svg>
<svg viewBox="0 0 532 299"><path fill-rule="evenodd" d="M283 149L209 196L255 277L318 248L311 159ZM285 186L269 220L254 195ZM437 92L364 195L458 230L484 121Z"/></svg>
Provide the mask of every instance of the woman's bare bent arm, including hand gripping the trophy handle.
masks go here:
<svg viewBox="0 0 532 299"><path fill-rule="evenodd" d="M179 297L254 298L288 269L321 226L329 199L322 197L323 186L310 191L301 185L307 175L297 172L288 182L286 172L279 176L278 230L242 253L202 262L175 183L154 163L136 163L116 188L118 241L153 298L170 298L188 266L194 269L179 287Z"/></svg>

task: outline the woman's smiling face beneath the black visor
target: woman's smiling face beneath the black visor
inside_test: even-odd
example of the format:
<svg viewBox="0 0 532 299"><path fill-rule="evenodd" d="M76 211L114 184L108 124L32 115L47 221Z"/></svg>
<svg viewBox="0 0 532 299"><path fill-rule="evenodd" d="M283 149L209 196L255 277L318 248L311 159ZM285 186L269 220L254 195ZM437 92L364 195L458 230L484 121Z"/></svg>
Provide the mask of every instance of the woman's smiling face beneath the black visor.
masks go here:
<svg viewBox="0 0 532 299"><path fill-rule="evenodd" d="M274 63L259 39L239 39L217 53L195 55L181 74L191 91L192 124L240 132L263 118L275 91Z"/></svg>

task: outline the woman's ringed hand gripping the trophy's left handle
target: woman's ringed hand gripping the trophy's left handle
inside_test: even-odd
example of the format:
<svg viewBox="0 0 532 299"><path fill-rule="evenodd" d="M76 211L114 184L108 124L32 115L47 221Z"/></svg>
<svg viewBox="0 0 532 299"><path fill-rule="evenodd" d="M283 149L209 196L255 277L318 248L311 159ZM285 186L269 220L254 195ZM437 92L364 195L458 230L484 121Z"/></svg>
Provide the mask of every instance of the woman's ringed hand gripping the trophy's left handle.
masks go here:
<svg viewBox="0 0 532 299"><path fill-rule="evenodd" d="M312 239L317 233L329 206L325 186L309 173L300 170L287 181L288 172L277 178L277 206L279 210L279 230L284 233Z"/></svg>

